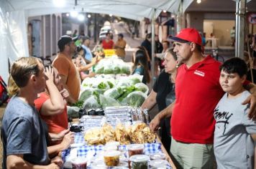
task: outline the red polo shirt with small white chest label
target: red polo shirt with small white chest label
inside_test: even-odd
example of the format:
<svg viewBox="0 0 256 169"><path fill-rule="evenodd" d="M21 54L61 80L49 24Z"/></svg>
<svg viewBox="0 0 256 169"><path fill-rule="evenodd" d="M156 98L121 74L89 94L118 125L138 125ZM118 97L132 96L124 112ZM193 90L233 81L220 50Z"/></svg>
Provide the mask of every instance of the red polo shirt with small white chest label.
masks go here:
<svg viewBox="0 0 256 169"><path fill-rule="evenodd" d="M176 101L171 118L171 134L183 143L214 143L214 108L224 95L219 84L219 66L212 57L183 64L175 80Z"/></svg>

